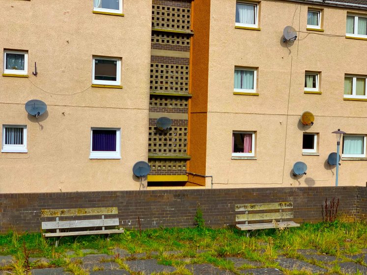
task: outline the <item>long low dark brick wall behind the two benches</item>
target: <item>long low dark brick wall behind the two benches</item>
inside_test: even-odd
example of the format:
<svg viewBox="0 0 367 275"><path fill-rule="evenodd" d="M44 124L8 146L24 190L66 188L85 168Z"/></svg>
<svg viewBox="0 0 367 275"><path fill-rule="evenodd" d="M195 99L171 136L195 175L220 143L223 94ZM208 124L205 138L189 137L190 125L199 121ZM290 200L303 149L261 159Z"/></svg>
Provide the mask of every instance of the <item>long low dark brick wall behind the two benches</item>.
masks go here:
<svg viewBox="0 0 367 275"><path fill-rule="evenodd" d="M364 205L363 211L366 211L367 188L353 186L3 193L0 194L0 232L6 233L9 229L39 232L41 221L46 220L41 218L41 209L113 206L118 207L118 214L109 216L119 218L120 226L124 228L137 228L138 217L142 229L160 226L188 227L193 226L198 203L203 211L205 224L210 227L235 224L234 205L238 203L292 201L294 221L317 222L322 220L321 205L326 197L339 198L339 212L355 216L360 210L357 192L361 197L358 201ZM90 219L87 216L84 218Z"/></svg>

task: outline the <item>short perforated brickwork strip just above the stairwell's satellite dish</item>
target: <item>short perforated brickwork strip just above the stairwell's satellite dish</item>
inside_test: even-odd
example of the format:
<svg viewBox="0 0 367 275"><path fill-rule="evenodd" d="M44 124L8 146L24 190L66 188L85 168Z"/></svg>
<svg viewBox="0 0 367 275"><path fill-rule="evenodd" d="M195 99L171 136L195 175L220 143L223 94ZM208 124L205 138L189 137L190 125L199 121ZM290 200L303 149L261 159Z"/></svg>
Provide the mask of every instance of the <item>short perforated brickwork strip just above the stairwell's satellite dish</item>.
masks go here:
<svg viewBox="0 0 367 275"><path fill-rule="evenodd" d="M150 95L149 111L166 113L187 113L189 99L186 97L168 97Z"/></svg>

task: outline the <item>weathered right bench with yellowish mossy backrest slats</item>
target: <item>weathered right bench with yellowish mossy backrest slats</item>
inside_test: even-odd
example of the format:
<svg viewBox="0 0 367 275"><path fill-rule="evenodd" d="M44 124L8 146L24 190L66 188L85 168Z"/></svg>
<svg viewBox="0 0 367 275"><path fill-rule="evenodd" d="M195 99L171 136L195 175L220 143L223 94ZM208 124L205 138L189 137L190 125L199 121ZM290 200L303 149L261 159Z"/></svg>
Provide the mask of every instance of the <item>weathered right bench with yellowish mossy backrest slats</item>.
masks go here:
<svg viewBox="0 0 367 275"><path fill-rule="evenodd" d="M236 224L236 227L241 230L255 230L266 228L282 228L300 226L294 221L282 221L283 219L292 219L293 211L282 212L282 209L293 209L292 202L275 202L275 203L257 203L257 204L236 204L235 212L245 211L245 214L236 215L237 221L245 221L245 224ZM258 213L262 210L279 210L279 212ZM254 213L256 211L256 213ZM251 212L251 213L249 213ZM259 221L257 223L249 223ZM265 222L272 220L272 222ZM279 221L278 221L279 220ZM249 237L249 233L247 233Z"/></svg>

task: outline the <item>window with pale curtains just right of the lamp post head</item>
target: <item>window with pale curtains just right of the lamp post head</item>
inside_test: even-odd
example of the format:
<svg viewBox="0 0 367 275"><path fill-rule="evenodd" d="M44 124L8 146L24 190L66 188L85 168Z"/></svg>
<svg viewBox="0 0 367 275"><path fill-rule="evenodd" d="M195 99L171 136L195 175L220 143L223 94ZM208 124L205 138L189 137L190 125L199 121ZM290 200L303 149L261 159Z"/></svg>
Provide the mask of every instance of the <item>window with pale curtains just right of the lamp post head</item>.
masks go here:
<svg viewBox="0 0 367 275"><path fill-rule="evenodd" d="M343 135L342 157L366 157L365 135Z"/></svg>

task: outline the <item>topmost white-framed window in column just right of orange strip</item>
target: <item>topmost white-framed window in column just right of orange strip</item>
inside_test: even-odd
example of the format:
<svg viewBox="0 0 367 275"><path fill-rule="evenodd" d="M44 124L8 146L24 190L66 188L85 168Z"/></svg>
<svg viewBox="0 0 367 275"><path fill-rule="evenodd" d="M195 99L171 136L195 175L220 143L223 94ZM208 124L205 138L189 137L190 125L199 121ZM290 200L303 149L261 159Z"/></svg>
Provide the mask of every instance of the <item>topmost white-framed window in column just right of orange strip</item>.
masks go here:
<svg viewBox="0 0 367 275"><path fill-rule="evenodd" d="M236 26L257 27L258 5L244 2L236 3Z"/></svg>

